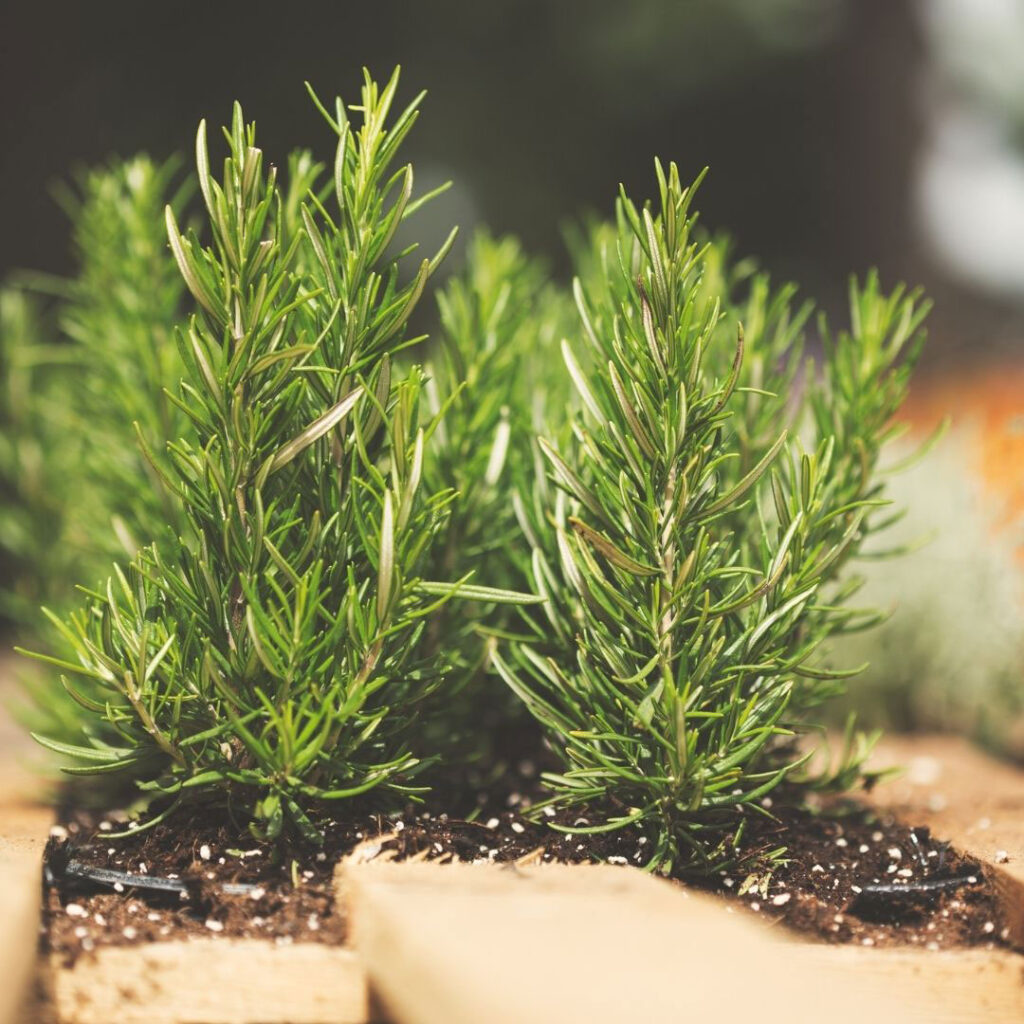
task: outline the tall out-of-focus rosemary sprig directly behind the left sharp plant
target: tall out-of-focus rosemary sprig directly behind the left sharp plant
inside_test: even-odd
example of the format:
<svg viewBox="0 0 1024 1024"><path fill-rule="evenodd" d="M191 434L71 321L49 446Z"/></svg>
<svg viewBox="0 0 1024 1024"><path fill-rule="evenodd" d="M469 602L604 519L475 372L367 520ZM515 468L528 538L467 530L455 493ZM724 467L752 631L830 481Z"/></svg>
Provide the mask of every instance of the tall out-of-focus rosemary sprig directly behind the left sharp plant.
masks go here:
<svg viewBox="0 0 1024 1024"><path fill-rule="evenodd" d="M185 429L168 390L181 377L174 325L184 287L167 252L163 210L180 210L178 162L144 156L83 175L59 194L74 225L79 273L55 283L65 298L69 434L79 438L81 493L65 543L80 553L78 580L105 578L112 563L178 529L180 517L133 431L161 443ZM45 284L44 284L45 287Z"/></svg>

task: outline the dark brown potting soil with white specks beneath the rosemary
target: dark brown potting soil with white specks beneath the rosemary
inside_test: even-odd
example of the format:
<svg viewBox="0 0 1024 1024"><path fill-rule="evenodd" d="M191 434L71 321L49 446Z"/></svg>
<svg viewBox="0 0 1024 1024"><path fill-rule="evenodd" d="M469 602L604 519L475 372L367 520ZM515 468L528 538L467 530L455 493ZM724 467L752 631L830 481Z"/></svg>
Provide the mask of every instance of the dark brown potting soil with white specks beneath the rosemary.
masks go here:
<svg viewBox="0 0 1024 1024"><path fill-rule="evenodd" d="M524 762L513 775L520 784L506 786L499 803L479 794L466 815L472 820L424 806L391 816L355 812L322 821L324 847L294 855L255 841L223 814L179 814L115 839L112 834L125 828L123 817L67 813L47 847L43 948L73 963L100 946L199 935L341 943L346 923L334 901L333 876L350 854L471 863L647 861L647 841L634 828L571 836L549 825L585 825L585 815L549 811L540 823L527 820L536 769ZM827 942L930 949L1005 942L983 868L927 829L849 803L811 812L776 801L774 807L765 801L770 814L749 831L746 845L752 851L785 846L787 859L770 874L723 872L699 883L730 911L756 913ZM97 883L81 877L95 869L133 878ZM143 879L165 880L157 884L180 891L151 891Z"/></svg>

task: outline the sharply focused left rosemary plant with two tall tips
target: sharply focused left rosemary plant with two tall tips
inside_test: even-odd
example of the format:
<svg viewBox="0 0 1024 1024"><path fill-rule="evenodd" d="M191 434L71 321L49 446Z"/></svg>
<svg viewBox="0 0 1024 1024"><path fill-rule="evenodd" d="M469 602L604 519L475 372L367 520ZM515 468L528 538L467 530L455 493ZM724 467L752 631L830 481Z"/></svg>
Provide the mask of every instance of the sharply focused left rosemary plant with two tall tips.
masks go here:
<svg viewBox="0 0 1024 1024"><path fill-rule="evenodd" d="M418 340L410 317L451 238L403 274L411 250L391 242L429 196L414 200L412 168L393 167L420 101L392 118L397 84L366 77L358 124L313 97L337 148L326 180L293 160L301 200L240 108L219 180L201 125L209 244L167 209L196 303L169 395L187 428L166 456L142 441L183 525L54 616L72 657L38 655L116 733L41 741L84 762L73 773L124 773L167 798L151 824L186 798L230 801L257 835L316 842L327 802L407 799L432 760L418 714L446 671L420 656L429 616L457 592L521 599L421 571L452 493L423 484L424 377L393 357Z"/></svg>

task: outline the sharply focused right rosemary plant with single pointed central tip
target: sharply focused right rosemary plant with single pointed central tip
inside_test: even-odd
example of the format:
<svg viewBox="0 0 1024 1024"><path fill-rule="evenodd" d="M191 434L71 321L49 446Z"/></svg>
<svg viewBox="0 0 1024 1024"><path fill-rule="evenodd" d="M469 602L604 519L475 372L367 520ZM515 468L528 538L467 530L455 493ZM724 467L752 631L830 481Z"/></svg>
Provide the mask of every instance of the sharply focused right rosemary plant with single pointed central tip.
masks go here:
<svg viewBox="0 0 1024 1024"><path fill-rule="evenodd" d="M850 330L802 370L808 310L698 244L696 184L656 172L657 208L624 191L575 285L581 408L519 503L544 605L495 662L564 763L550 803L604 817L566 827L638 826L651 868L703 871L804 762L849 675L825 641L873 618L843 570L885 525L876 463L926 310L853 285Z"/></svg>

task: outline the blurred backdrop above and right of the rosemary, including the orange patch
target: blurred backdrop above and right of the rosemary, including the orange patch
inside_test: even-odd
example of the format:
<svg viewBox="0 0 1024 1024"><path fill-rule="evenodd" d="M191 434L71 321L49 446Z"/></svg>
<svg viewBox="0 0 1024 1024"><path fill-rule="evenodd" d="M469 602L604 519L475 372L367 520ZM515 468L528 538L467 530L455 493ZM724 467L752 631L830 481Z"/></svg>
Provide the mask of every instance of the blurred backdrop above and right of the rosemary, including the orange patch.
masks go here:
<svg viewBox="0 0 1024 1024"><path fill-rule="evenodd" d="M649 195L654 155L710 165L703 222L829 311L870 266L935 299L908 421L954 426L897 496L906 539L941 534L871 570L900 610L861 702L1024 753L992 726L1022 707L1022 47L1019 0L8 4L0 279L73 269L51 188L74 168L187 156L234 98L279 160L327 146L302 82L351 96L361 65L429 90L409 156L422 186L455 182L437 234L512 231L556 274L566 221L620 181Z"/></svg>

